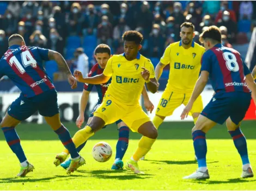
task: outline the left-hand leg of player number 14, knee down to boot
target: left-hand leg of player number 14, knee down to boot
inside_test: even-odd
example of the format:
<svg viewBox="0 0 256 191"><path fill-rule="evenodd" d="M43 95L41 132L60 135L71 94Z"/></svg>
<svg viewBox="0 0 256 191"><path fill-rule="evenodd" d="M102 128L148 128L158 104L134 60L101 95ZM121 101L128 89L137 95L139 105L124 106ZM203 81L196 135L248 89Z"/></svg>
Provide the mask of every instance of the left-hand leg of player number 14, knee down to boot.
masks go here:
<svg viewBox="0 0 256 191"><path fill-rule="evenodd" d="M21 147L20 137L17 135L17 132L15 130L15 126L17 126L19 123L20 120L9 116L9 114L7 113L1 122L1 128L10 149L14 152L14 154L20 161L21 169L17 176L24 177L29 172L33 171L34 166L27 161L27 157L25 156L24 151Z"/></svg>

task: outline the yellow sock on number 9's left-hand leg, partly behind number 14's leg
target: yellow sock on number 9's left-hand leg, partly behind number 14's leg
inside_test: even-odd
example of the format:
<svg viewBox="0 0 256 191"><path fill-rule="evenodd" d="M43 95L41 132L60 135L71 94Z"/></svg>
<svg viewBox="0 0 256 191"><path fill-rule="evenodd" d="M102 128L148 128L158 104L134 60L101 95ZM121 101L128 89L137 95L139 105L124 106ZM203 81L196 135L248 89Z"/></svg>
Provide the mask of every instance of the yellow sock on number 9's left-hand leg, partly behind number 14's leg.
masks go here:
<svg viewBox="0 0 256 191"><path fill-rule="evenodd" d="M89 137L92 137L94 135L94 132L92 132L92 128L90 128L88 125L77 131L74 137L72 137L72 141L76 145L76 148L79 147L81 144L87 141ZM69 154L68 149L64 149L63 152L66 154Z"/></svg>

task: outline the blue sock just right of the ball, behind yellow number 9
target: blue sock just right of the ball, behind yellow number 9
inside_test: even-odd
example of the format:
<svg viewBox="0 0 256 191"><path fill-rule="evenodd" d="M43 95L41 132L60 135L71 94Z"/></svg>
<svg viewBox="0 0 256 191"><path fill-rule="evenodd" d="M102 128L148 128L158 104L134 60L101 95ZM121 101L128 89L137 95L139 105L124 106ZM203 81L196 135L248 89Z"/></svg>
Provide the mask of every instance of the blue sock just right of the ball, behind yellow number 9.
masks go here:
<svg viewBox="0 0 256 191"><path fill-rule="evenodd" d="M115 159L123 159L129 144L129 132L130 130L129 128L127 128L127 126L121 126L121 128L119 129L119 139L117 142L117 154L115 154Z"/></svg>

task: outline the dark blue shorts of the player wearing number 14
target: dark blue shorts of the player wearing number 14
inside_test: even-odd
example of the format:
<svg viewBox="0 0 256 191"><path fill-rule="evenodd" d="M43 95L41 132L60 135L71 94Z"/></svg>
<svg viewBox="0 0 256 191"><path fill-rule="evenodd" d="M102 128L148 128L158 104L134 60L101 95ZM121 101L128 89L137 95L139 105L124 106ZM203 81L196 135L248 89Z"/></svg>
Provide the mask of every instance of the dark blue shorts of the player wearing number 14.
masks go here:
<svg viewBox="0 0 256 191"><path fill-rule="evenodd" d="M59 113L59 106L57 103L57 92L50 90L32 98L24 97L21 93L9 107L9 116L17 120L25 120L32 116L36 111L39 111L41 116L52 117Z"/></svg>

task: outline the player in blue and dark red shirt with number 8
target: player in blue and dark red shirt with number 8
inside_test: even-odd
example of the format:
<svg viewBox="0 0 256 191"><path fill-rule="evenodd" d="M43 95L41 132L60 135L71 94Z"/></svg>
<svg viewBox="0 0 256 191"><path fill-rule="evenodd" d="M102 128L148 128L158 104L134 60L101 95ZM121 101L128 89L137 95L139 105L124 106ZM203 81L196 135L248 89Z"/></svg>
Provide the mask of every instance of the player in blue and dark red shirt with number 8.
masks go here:
<svg viewBox="0 0 256 191"><path fill-rule="evenodd" d="M235 147L242 159L241 177L253 177L252 167L249 163L246 138L240 125L252 98L256 103L256 84L252 74L242 61L240 54L233 48L221 44L221 32L216 26L211 26L200 35L206 52L202 58L202 68L194 91L187 106L181 114L181 119L187 117L194 102L204 90L208 78L216 92L206 105L196 125L192 129L194 150L197 155L198 169L196 173L185 176L184 179L209 179L206 166L207 146L205 134L216 123L226 121L228 132L233 138Z"/></svg>

